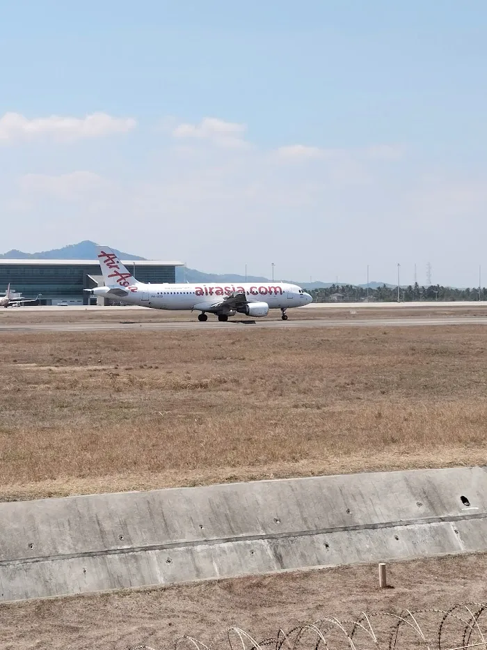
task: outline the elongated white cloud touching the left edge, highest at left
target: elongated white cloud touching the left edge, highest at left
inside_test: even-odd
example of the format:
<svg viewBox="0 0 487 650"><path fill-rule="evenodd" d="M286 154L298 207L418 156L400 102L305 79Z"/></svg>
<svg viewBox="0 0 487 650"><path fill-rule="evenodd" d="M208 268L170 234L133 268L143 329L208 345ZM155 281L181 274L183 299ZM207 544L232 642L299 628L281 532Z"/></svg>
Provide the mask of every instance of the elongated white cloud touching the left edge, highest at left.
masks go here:
<svg viewBox="0 0 487 650"><path fill-rule="evenodd" d="M135 127L133 118L115 118L106 113L92 113L84 118L51 115L32 120L19 113L6 113L0 118L0 143L43 136L61 141L99 138Z"/></svg>

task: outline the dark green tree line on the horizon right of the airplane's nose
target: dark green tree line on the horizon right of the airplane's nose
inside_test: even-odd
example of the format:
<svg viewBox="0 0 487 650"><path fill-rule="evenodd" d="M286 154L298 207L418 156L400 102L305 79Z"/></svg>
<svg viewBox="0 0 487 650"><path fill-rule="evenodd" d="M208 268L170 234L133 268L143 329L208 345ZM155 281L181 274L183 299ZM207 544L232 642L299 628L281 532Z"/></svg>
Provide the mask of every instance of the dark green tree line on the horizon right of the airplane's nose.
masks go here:
<svg viewBox="0 0 487 650"><path fill-rule="evenodd" d="M352 284L332 284L327 287L309 289L314 302L397 302L397 286L378 286L377 288L353 286ZM454 302L486 300L486 289L474 288L453 288L433 284L431 286L420 286L417 282L414 285L401 286L399 288L400 302L421 302L424 301L445 301Z"/></svg>

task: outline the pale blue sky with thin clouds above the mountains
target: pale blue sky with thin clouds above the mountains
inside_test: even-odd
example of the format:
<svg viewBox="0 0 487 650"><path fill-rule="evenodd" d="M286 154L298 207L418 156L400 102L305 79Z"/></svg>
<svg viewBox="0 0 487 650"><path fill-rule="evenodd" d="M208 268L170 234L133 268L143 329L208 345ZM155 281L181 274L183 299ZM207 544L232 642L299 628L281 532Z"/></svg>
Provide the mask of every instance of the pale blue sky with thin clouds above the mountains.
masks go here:
<svg viewBox="0 0 487 650"><path fill-rule="evenodd" d="M487 277L486 3L4 4L1 249Z"/></svg>

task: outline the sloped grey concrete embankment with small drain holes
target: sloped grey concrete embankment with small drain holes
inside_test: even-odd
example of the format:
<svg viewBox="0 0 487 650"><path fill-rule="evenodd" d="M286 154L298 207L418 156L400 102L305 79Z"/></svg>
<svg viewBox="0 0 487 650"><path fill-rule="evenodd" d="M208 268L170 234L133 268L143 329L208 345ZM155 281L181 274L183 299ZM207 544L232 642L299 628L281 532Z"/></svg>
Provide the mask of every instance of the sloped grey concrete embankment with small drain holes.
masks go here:
<svg viewBox="0 0 487 650"><path fill-rule="evenodd" d="M479 550L484 467L4 503L0 599Z"/></svg>

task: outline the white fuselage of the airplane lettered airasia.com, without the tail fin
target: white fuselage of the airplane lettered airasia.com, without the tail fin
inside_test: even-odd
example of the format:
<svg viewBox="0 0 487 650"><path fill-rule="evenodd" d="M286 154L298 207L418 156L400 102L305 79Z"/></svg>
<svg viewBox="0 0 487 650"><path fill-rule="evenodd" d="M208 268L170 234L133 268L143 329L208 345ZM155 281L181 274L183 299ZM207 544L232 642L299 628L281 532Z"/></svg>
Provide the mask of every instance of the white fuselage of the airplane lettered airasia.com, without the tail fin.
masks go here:
<svg viewBox="0 0 487 650"><path fill-rule="evenodd" d="M269 309L303 307L311 296L296 284L282 282L266 284L131 284L124 287L129 295L111 295L110 287L93 289L94 295L104 295L126 304L138 304L152 309L184 309L216 311L215 304L225 296L245 293L248 302L265 302Z"/></svg>

